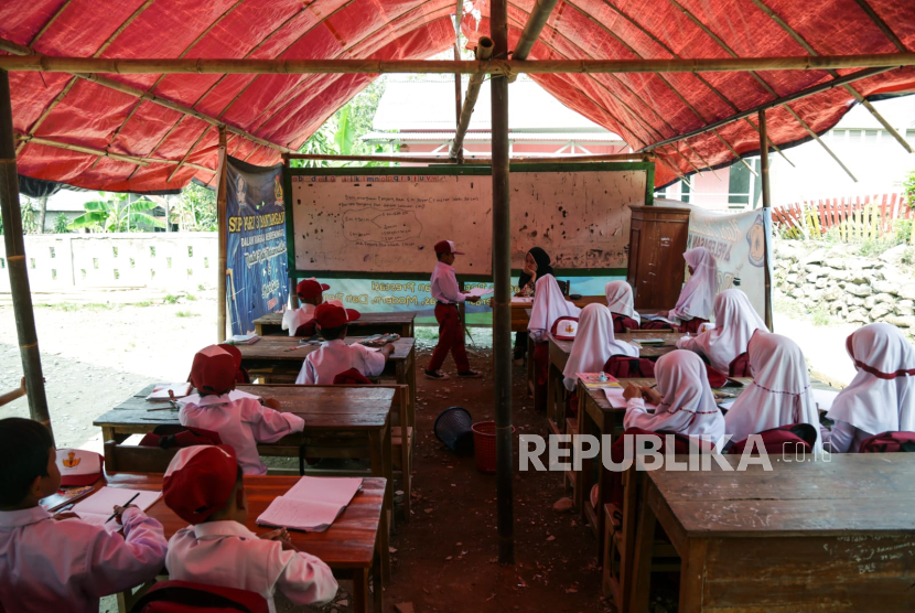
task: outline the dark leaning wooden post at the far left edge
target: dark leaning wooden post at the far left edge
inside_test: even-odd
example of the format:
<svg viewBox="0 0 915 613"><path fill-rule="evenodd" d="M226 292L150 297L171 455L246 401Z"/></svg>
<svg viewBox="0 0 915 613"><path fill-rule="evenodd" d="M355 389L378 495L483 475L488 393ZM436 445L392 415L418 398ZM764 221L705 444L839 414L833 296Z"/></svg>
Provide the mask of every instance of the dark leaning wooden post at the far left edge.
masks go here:
<svg viewBox="0 0 915 613"><path fill-rule="evenodd" d="M19 209L19 175L15 169L15 139L13 138L10 75L0 71L0 213L3 218L3 243L7 247L7 268L10 271L10 291L19 336L19 355L25 389L29 394L29 415L51 430L44 375L41 369L39 335L32 310L32 291L25 267L25 240L22 237L22 213ZM53 433L52 433L53 435Z"/></svg>

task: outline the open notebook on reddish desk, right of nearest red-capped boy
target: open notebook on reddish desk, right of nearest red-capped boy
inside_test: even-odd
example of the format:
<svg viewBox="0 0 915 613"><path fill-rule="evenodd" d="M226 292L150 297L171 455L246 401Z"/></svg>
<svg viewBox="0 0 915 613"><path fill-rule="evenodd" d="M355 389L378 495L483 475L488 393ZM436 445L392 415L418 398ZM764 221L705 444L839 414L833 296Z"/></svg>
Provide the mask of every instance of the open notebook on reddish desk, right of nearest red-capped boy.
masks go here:
<svg viewBox="0 0 915 613"><path fill-rule="evenodd" d="M273 498L257 523L274 528L323 533L363 486L359 477L303 476L289 492Z"/></svg>

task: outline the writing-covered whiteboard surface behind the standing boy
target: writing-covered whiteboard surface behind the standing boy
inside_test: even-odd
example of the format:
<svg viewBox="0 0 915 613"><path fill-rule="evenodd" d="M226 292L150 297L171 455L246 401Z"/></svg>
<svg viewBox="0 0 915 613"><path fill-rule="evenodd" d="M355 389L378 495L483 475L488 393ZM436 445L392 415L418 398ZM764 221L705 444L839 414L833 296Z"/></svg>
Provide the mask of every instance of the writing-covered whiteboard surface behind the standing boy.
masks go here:
<svg viewBox="0 0 915 613"><path fill-rule="evenodd" d="M646 204L653 166L556 168L512 169L512 267L523 268L525 254L538 246L556 268L625 268L629 207ZM299 276L429 273L432 247L444 239L466 254L454 264L459 273L492 275L488 169L449 170L293 169L287 218Z"/></svg>

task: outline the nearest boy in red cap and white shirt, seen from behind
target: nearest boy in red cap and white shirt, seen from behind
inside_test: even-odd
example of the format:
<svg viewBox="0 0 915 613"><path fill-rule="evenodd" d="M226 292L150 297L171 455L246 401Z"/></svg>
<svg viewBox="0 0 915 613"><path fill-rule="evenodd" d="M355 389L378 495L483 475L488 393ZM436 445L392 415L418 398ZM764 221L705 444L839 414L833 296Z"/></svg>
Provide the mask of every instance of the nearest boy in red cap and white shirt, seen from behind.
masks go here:
<svg viewBox="0 0 915 613"><path fill-rule="evenodd" d="M295 549L286 529L258 537L246 527L248 498L230 447L179 450L162 485L165 504L191 524L169 541L170 579L256 592L273 613L274 590L293 604L336 595L327 564Z"/></svg>

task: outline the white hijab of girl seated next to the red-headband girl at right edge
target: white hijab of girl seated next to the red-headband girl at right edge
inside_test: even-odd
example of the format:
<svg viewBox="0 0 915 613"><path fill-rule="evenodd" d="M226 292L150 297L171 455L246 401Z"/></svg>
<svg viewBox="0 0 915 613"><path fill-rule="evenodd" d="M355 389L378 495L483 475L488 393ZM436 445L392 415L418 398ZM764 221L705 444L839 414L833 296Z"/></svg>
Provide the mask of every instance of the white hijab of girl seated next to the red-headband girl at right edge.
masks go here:
<svg viewBox="0 0 915 613"><path fill-rule="evenodd" d="M763 430L809 423L817 431L814 450L820 451L819 413L800 347L762 329L753 335L747 353L754 381L724 416L724 431L742 441Z"/></svg>

